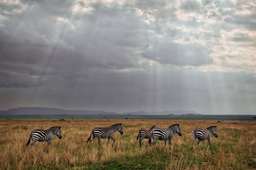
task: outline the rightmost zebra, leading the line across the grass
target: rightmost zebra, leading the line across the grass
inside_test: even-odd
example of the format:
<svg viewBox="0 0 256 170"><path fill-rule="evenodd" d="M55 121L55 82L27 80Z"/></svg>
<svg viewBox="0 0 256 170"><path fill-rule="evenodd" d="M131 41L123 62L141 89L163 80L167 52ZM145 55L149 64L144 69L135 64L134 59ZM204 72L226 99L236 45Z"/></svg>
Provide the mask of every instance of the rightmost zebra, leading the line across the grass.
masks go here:
<svg viewBox="0 0 256 170"><path fill-rule="evenodd" d="M199 143L202 140L202 148L203 148L204 140L207 139L209 142L209 145L210 145L210 149L212 149L211 143L210 143L211 134L213 134L216 138L218 137L216 127L217 126L211 126L206 129L196 128L195 130L193 130L193 132L192 132L192 135L193 135L192 148L193 148L193 144L194 144L196 138L198 138L197 146L199 146ZM191 148L191 150L192 150L192 148Z"/></svg>

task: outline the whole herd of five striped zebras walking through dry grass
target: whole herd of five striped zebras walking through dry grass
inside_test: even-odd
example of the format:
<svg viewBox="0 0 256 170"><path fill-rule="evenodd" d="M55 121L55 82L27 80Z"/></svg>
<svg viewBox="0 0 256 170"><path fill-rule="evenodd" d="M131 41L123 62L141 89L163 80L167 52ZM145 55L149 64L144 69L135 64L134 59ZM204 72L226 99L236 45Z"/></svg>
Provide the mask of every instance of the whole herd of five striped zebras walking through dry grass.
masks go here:
<svg viewBox="0 0 256 170"><path fill-rule="evenodd" d="M29 148L31 148L31 146L34 146L36 148L37 141L39 141L39 142L47 141L47 145L51 145L51 140L54 135L58 136L59 139L62 138L60 129L61 129L61 126L54 126L47 130L35 129L30 133L28 143L26 146L29 145L31 138L32 138L33 142L31 143ZM87 142L90 141L87 148L90 147L90 144L94 138L97 138L99 145L100 145L101 138L108 138L108 143L109 143L109 140L112 139L113 140L112 147L113 147L113 145L115 143L115 139L113 138L113 136L116 131L118 131L121 135L123 135L122 123L112 125L108 128L92 129L92 133L87 140ZM182 135L180 128L179 128L179 124L171 125L171 126L169 126L169 128L157 128L157 125L153 125L151 129L142 128L142 129L138 130L137 140L139 139L140 148L141 148L141 141L143 139L148 139L148 143L147 143L146 147L148 146L148 144L151 145L151 138L154 139L153 146L156 145L157 140L164 140L164 148L166 147L166 141L169 140L169 149L171 150L171 148L170 148L171 140L175 133L177 133L179 136ZM209 145L210 145L210 149L212 149L211 143L210 143L211 134L213 134L216 138L218 137L216 126L210 126L206 129L196 128L195 130L193 130L193 132L192 132L192 136L193 136L192 148L193 148L193 144L197 138L198 139L197 146L199 146L199 143L202 140L202 148L203 148L204 140L207 139L209 142ZM100 145L100 147L101 147L101 145ZM156 148L157 148L157 146L156 146ZM192 150L192 148L191 148L191 150Z"/></svg>

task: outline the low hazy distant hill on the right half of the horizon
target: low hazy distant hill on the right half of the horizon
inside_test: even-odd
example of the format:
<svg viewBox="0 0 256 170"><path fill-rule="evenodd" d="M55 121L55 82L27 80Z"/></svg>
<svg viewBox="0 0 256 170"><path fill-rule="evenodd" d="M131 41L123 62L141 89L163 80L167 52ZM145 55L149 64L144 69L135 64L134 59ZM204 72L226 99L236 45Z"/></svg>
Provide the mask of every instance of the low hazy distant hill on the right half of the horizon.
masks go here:
<svg viewBox="0 0 256 170"><path fill-rule="evenodd" d="M162 112L127 112L121 113L120 115L186 115L186 114L199 114L193 110L174 110L174 111L162 111Z"/></svg>

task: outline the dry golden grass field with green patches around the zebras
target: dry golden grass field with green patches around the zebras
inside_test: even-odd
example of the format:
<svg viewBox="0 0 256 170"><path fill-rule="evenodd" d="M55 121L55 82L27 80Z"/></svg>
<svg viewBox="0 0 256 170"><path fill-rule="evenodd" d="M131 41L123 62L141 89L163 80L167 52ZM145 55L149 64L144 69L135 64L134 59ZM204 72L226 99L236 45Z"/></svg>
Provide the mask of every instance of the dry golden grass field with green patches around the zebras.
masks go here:
<svg viewBox="0 0 256 170"><path fill-rule="evenodd" d="M94 127L108 127L122 123L123 135L116 132L113 148L110 139L102 139L100 149L93 140L87 149L87 138ZM136 137L140 128L151 128L152 124L168 128L179 123L182 136L174 135L172 150L146 148L147 139L139 148ZM210 150L205 141L203 150L190 150L192 130L217 125L218 138L212 135ZM61 126L62 139L54 136L52 145L37 142L36 150L26 148L29 134L33 129L48 129ZM256 169L256 121L239 120L130 120L130 119L13 119L0 120L0 169L166 169L166 170L227 170ZM158 141L159 148L164 141ZM201 144L202 145L202 144Z"/></svg>

